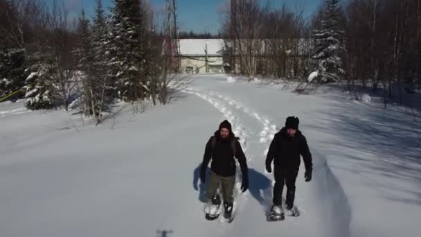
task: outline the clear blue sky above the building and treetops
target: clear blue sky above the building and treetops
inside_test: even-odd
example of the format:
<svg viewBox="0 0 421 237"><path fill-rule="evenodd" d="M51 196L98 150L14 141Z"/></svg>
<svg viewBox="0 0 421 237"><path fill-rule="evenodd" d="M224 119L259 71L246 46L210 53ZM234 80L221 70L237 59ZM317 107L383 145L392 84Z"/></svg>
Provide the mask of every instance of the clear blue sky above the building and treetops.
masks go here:
<svg viewBox="0 0 421 237"><path fill-rule="evenodd" d="M53 0L47 0L53 1ZM78 15L78 12L83 8L88 15L93 15L95 8L94 0L57 0L64 1L66 6L72 12L72 15ZM223 20L222 12L227 10L229 0L176 0L177 13L179 16L179 26L184 31L195 31L201 33L209 31L217 33L220 29L220 24ZM265 3L266 0L259 0ZM274 8L280 6L283 2L289 4L292 8L298 4L304 9L305 17L310 17L312 12L316 10L322 0L272 0ZM112 6L112 0L102 0L106 8ZM165 0L150 0L154 9L162 9L165 6Z"/></svg>

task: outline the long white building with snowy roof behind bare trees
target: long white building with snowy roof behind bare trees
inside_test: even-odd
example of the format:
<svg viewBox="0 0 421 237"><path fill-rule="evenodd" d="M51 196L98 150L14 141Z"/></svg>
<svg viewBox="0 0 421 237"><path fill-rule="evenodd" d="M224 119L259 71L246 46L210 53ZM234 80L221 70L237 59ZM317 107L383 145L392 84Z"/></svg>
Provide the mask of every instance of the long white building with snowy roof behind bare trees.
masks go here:
<svg viewBox="0 0 421 237"><path fill-rule="evenodd" d="M247 62L253 62L257 73L265 71L265 67L285 70L289 76L301 74L309 64L311 54L311 40L296 39L265 39L265 40L236 40L235 50L232 43L223 39L182 39L179 40L179 63L181 73L240 73L241 55ZM239 45L241 45L239 47ZM251 45L253 56L248 57L248 49ZM274 64L273 53L282 55L280 50L285 50L285 60L282 64ZM224 53L225 52L225 53ZM231 52L231 55L230 53ZM247 58L248 57L248 58ZM233 66L231 67L231 64ZM288 69L288 70L287 70Z"/></svg>

